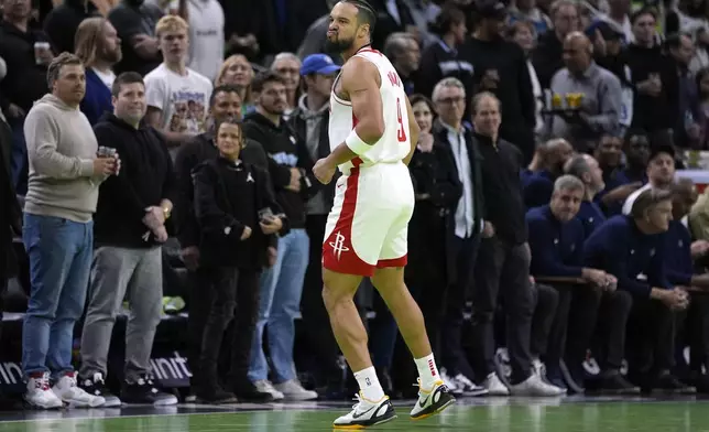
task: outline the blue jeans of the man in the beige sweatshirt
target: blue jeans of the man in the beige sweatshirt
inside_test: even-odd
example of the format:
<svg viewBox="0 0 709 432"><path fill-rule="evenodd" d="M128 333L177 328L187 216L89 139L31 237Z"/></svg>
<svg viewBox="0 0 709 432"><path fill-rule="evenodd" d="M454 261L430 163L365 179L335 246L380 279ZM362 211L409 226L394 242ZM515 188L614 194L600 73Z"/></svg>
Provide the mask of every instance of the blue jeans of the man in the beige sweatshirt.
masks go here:
<svg viewBox="0 0 709 432"><path fill-rule="evenodd" d="M25 214L22 237L32 282L22 330L22 369L26 375L73 371L74 324L86 302L94 223Z"/></svg>

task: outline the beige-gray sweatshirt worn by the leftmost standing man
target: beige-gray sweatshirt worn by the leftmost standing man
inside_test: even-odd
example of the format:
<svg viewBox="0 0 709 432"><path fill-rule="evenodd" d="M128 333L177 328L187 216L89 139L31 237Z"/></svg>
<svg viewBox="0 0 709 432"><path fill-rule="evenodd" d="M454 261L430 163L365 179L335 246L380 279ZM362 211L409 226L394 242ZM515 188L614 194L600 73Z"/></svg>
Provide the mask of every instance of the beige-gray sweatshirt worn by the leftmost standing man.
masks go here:
<svg viewBox="0 0 709 432"><path fill-rule="evenodd" d="M54 95L34 102L24 121L30 177L24 210L78 223L91 220L103 176L94 175L98 151L86 116Z"/></svg>

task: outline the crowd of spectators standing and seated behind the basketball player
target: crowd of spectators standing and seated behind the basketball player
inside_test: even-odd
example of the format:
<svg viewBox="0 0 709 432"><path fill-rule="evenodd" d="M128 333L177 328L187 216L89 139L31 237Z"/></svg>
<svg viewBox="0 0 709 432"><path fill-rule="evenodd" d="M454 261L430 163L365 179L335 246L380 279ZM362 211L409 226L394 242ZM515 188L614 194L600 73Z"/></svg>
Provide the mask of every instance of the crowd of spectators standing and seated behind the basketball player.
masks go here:
<svg viewBox="0 0 709 432"><path fill-rule="evenodd" d="M28 403L178 403L151 375L167 291L188 398L356 391L321 299L334 183L312 174L334 3L1 1L0 292L26 281ZM446 385L709 391L709 190L677 175L709 150L709 1L370 3L422 130L405 274ZM384 390L412 397L394 320L362 291Z"/></svg>

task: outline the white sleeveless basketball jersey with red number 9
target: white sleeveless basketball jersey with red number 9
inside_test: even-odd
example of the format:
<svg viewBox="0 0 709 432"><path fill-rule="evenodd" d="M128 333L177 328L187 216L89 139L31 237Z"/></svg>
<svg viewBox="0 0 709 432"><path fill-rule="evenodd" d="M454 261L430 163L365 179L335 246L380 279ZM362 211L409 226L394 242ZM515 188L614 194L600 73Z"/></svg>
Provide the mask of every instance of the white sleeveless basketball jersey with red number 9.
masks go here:
<svg viewBox="0 0 709 432"><path fill-rule="evenodd" d="M375 163L394 163L406 158L411 151L411 137L408 136L408 112L406 111L406 93L404 85L391 64L389 58L379 51L364 48L357 54L358 57L372 62L381 77L379 93L382 98L384 115L384 134L372 145L360 159L366 165ZM335 80L340 79L338 76ZM335 89L335 87L332 87ZM330 150L335 150L345 142L347 136L357 126L357 118L352 112L352 104L342 100L335 91L330 96ZM340 166L340 171L348 172L352 163L348 162Z"/></svg>

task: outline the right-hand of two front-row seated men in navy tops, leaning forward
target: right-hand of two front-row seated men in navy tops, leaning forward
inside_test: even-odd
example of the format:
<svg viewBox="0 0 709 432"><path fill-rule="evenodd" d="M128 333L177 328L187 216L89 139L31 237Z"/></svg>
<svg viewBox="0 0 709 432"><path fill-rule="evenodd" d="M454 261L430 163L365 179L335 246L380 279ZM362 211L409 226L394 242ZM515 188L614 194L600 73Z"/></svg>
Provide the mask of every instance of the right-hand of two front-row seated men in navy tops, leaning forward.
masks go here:
<svg viewBox="0 0 709 432"><path fill-rule="evenodd" d="M665 239L672 219L672 193L641 192L630 215L610 218L583 245L585 266L618 279L618 289L633 298L628 325L630 380L643 391L694 391L672 375L675 366L673 321L688 295L667 280Z"/></svg>

